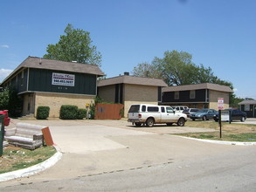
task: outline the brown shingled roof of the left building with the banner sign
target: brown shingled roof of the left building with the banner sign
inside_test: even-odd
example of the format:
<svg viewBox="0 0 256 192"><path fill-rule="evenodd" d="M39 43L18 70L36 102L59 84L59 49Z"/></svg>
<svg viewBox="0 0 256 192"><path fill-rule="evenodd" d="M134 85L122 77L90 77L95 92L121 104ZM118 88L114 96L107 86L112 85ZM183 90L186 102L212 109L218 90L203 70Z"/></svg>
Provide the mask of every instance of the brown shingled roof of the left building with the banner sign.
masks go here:
<svg viewBox="0 0 256 192"><path fill-rule="evenodd" d="M28 57L22 62L17 68L10 73L10 75L3 80L3 82L9 79L15 72L21 68L37 68L37 69L48 69L48 70L57 70L63 72L80 72L87 74L94 74L98 76L104 76L105 74L101 72L98 65L87 65L75 62L66 62L59 60L52 60L47 58L37 58L37 57Z"/></svg>

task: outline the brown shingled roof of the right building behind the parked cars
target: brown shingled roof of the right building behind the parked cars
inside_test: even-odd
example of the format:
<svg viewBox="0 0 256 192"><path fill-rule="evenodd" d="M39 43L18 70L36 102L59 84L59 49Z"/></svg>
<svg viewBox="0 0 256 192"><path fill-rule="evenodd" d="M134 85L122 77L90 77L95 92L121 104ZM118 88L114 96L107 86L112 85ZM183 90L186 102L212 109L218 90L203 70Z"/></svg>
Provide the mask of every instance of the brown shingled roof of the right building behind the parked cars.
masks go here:
<svg viewBox="0 0 256 192"><path fill-rule="evenodd" d="M163 92L179 92L179 91L189 91L189 90L199 90L199 89L210 89L218 92L232 93L232 89L229 86L221 86L218 84L203 83L185 86L169 86L164 87Z"/></svg>

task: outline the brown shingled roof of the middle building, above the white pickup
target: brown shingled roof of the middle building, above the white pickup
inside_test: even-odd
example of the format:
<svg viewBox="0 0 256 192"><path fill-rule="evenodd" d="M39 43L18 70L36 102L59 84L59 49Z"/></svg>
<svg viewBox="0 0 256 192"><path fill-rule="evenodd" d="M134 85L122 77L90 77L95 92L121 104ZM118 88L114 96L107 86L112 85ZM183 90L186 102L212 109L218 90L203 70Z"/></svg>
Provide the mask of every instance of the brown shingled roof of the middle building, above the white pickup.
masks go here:
<svg viewBox="0 0 256 192"><path fill-rule="evenodd" d="M162 79L141 78L129 75L121 75L114 78L100 80L98 86L110 86L115 84L132 84L142 86L167 86Z"/></svg>

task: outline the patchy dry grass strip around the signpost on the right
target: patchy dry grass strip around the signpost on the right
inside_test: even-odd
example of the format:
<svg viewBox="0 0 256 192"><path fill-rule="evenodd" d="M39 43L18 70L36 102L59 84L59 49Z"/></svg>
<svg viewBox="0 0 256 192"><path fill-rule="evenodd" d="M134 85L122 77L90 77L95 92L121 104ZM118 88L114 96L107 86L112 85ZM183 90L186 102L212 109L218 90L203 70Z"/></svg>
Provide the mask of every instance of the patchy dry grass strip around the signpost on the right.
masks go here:
<svg viewBox="0 0 256 192"><path fill-rule="evenodd" d="M218 140L218 141L243 141L256 142L256 125L246 124L229 124L222 122L222 138L219 137L218 122L206 120L187 121L187 127L204 127L212 129L210 133L188 133L178 134L186 137L193 137L197 139Z"/></svg>

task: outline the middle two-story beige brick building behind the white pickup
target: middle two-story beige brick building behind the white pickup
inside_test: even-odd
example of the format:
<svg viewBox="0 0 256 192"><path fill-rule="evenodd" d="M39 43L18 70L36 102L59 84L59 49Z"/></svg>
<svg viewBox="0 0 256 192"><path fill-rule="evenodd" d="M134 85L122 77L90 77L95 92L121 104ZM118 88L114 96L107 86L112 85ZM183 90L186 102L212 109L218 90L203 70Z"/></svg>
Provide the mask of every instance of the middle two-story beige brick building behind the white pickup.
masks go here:
<svg viewBox="0 0 256 192"><path fill-rule="evenodd" d="M124 116L132 104L148 103L157 105L162 99L162 87L167 86L162 79L130 76L128 72L114 78L100 80L98 95L104 101L124 105Z"/></svg>

